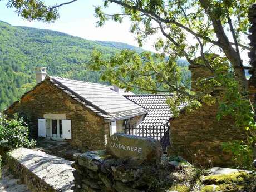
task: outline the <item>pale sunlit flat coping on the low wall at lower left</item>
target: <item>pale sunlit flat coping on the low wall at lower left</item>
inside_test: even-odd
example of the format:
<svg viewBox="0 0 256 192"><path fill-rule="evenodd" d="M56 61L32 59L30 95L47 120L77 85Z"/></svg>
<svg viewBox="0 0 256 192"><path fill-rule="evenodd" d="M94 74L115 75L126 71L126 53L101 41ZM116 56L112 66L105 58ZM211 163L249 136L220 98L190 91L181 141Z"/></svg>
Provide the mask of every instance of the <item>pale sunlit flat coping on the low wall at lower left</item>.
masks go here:
<svg viewBox="0 0 256 192"><path fill-rule="evenodd" d="M73 191L71 188L75 186L75 184L72 171L75 169L71 167L72 161L49 155L42 151L25 148L19 148L9 152L8 158L12 159L12 161L9 160L10 163L14 160L17 164L26 168L29 174L34 174L35 178L39 178L42 181L41 183L45 183L47 187L50 186L52 191ZM19 170L16 170L16 172L19 172ZM22 175L24 173L19 174ZM31 184L29 185L31 186ZM38 188L37 184L30 188L38 190L36 189ZM42 189L41 191L44 190Z"/></svg>

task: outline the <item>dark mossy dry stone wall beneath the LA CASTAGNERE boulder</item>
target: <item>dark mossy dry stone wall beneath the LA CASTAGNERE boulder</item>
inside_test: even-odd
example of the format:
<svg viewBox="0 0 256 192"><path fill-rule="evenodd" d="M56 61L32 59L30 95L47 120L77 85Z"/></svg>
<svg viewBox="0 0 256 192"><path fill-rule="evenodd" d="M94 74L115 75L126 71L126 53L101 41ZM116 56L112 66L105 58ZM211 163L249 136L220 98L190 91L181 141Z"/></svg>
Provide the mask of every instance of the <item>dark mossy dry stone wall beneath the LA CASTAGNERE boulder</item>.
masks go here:
<svg viewBox="0 0 256 192"><path fill-rule="evenodd" d="M157 182L171 185L170 165L134 165L130 160L114 159L105 151L87 151L72 165L77 192L156 191ZM161 178L161 179L160 179ZM163 191L163 190L157 190Z"/></svg>

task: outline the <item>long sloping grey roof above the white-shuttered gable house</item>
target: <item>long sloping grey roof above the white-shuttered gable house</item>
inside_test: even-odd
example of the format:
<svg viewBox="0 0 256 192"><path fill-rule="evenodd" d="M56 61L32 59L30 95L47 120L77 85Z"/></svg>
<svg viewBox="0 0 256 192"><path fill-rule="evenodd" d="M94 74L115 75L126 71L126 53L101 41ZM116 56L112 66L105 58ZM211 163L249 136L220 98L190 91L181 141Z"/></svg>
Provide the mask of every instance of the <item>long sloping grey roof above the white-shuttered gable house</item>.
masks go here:
<svg viewBox="0 0 256 192"><path fill-rule="evenodd" d="M97 115L104 117L106 121L128 119L148 112L140 105L124 97L127 94L124 90L120 89L119 92L115 92L114 87L99 83L52 76L46 78L50 78L54 85ZM128 93L131 94L131 92Z"/></svg>

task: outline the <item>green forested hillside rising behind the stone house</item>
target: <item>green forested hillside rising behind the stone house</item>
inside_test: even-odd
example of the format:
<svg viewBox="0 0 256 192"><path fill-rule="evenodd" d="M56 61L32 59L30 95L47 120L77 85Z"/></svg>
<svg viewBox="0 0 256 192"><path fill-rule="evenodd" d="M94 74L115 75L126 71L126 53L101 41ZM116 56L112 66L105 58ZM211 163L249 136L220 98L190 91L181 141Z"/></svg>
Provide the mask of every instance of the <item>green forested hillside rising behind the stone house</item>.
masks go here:
<svg viewBox="0 0 256 192"><path fill-rule="evenodd" d="M88 70L90 53L97 49L107 56L123 48L143 51L125 43L88 41L0 21L0 111L35 86L36 66L47 67L49 75L99 82L99 72ZM187 67L182 68L189 76Z"/></svg>

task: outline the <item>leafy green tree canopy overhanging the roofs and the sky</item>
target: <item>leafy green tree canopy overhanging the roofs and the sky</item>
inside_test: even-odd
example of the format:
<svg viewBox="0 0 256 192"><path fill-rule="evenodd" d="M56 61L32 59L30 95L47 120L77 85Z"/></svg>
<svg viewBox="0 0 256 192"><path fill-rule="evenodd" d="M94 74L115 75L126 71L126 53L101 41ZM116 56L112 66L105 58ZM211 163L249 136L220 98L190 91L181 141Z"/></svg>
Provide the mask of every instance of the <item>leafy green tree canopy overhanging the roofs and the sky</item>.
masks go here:
<svg viewBox="0 0 256 192"><path fill-rule="evenodd" d="M77 0L46 6L42 1L10 0L9 7L26 19L52 22L58 18L58 8ZM131 21L131 32L139 45L146 38L161 34L154 44L157 54L123 51L120 55L102 59L101 53L93 52L92 68L105 70L102 78L119 83L120 86L140 87L152 92L175 92L170 106L188 101L191 107L200 107L202 102L211 104L218 100L220 116L232 115L238 127L250 132L247 144L255 142L254 112L249 103L247 80L240 56L247 36L249 22L247 14L254 0L106 0L95 8L99 18L97 26L112 19L121 23L124 17ZM106 14L105 8L118 4L121 12ZM223 57L212 58L210 53ZM168 56L166 60L166 56ZM200 56L200 59L196 59ZM211 80L201 78L199 93L191 92L180 81L176 61L186 58L191 65L204 66L213 73ZM211 88L223 87L221 97L213 98Z"/></svg>

